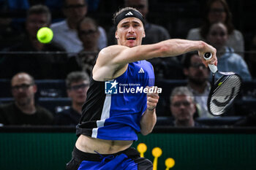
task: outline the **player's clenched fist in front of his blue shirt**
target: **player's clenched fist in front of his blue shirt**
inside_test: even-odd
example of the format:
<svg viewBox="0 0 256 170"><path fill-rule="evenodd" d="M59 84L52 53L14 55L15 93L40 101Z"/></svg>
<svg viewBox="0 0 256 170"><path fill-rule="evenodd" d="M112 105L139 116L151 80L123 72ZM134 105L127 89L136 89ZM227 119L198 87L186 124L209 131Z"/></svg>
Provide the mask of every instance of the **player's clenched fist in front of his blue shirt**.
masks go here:
<svg viewBox="0 0 256 170"><path fill-rule="evenodd" d="M156 107L157 107L157 103L158 103L158 100L159 100L159 95L157 93L157 86L153 86L153 87L146 87L149 89L151 88L154 88L152 89L153 93L147 93L147 109L148 110L154 110ZM154 93L155 92L155 93Z"/></svg>

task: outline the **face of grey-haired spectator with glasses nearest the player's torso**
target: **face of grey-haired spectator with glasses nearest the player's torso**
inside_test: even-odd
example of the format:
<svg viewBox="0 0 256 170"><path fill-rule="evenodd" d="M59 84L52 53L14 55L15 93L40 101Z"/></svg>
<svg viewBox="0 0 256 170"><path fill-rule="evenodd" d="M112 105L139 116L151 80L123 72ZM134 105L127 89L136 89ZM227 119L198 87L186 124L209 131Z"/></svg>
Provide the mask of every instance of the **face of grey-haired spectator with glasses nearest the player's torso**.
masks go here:
<svg viewBox="0 0 256 170"><path fill-rule="evenodd" d="M67 90L69 98L76 104L83 104L86 101L86 93L89 88L89 82L81 80L72 82L70 88Z"/></svg>

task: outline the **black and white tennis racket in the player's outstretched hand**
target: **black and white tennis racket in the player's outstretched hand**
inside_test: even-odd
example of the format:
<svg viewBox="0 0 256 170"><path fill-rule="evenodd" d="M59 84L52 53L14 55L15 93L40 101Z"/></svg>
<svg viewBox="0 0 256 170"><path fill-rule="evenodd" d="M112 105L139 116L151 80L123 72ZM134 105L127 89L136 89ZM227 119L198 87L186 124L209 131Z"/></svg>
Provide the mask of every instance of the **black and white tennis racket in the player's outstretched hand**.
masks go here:
<svg viewBox="0 0 256 170"><path fill-rule="evenodd" d="M205 53L203 58L211 59L211 53ZM211 90L208 95L207 107L211 115L219 116L230 108L236 96L241 90L241 77L234 72L219 72L217 66L208 64L212 72ZM222 77L215 82L215 74Z"/></svg>

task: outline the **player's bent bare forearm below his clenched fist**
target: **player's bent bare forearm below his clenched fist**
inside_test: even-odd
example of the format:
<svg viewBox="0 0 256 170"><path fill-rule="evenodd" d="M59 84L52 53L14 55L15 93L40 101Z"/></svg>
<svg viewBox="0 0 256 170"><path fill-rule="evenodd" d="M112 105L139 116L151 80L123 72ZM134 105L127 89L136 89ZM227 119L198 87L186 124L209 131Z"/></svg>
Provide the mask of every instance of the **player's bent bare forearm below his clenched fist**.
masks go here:
<svg viewBox="0 0 256 170"><path fill-rule="evenodd" d="M148 110L144 112L140 120L140 133L143 135L150 134L157 123L156 109Z"/></svg>

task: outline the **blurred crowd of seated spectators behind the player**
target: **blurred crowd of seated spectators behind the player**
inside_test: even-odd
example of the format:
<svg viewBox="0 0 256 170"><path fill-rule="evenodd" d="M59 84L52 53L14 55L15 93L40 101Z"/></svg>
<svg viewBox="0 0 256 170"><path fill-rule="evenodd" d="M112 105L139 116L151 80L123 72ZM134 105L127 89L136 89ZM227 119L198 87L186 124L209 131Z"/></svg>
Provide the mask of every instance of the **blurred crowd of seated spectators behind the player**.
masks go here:
<svg viewBox="0 0 256 170"><path fill-rule="evenodd" d="M207 109L211 74L197 52L150 60L156 85L163 88L157 125L256 125L256 35L252 30L248 38L236 28L237 19L228 4L232 1L204 1L202 14L195 19L198 25L189 28L192 25L188 23L186 37L173 36L173 30L157 20L147 20L154 15L149 11L153 9L150 2L118 1L121 7L134 7L146 18L143 45L170 38L203 40L217 49L218 69L236 72L244 81L235 104L222 117L214 117ZM165 3L175 2L161 2L163 11ZM115 27L99 25L104 23L101 19L111 22L112 18L101 4L100 0L0 0L1 125L78 123L97 53L116 44ZM94 17L100 10L105 16ZM168 14L159 16L165 18ZM37 40L42 27L53 30L53 40L48 44Z"/></svg>

